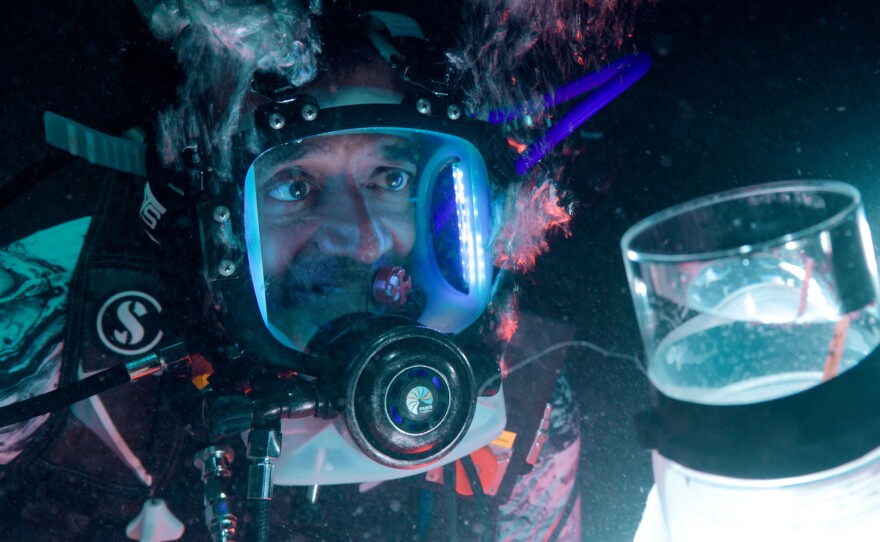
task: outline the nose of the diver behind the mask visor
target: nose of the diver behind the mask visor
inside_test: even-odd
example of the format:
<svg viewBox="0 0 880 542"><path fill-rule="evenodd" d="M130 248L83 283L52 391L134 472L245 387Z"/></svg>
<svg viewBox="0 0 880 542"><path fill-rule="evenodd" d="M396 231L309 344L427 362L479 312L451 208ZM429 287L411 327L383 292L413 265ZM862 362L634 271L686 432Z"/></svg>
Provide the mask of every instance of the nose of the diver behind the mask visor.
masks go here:
<svg viewBox="0 0 880 542"><path fill-rule="evenodd" d="M370 210L358 186L346 186L322 206L324 222L315 234L322 253L372 263L393 247L391 232Z"/></svg>

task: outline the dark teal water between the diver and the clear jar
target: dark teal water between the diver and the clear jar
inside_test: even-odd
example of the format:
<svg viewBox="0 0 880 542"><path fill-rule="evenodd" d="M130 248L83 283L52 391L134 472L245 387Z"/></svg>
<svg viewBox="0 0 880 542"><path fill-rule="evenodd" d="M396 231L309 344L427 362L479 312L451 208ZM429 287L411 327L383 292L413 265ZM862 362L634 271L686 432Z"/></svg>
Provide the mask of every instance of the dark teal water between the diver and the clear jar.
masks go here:
<svg viewBox="0 0 880 542"><path fill-rule="evenodd" d="M588 126L604 136L588 142L574 186L594 204L532 290L580 338L640 355L619 240L653 212L757 182L838 179L863 192L880 238L877 4L660 1L651 11L635 39L654 65ZM647 384L590 353L571 366L585 428L584 539L632 540L651 483L632 430Z"/></svg>

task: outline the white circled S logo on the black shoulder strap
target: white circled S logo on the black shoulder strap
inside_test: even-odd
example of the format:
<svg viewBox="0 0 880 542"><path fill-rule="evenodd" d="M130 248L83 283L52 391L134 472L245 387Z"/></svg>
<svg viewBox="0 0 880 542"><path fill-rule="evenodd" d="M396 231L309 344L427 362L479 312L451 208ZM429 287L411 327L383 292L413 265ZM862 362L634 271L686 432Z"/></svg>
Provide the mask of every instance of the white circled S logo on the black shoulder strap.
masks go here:
<svg viewBox="0 0 880 542"><path fill-rule="evenodd" d="M143 354L162 340L157 318L161 312L162 306L151 295L136 290L120 292L98 311L98 337L117 354Z"/></svg>

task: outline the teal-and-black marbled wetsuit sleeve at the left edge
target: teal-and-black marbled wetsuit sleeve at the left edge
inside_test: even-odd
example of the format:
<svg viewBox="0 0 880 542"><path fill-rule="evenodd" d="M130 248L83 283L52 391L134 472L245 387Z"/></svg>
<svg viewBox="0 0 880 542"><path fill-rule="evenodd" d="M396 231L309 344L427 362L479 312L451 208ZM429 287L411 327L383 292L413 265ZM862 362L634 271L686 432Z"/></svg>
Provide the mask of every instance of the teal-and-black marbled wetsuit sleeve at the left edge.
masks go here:
<svg viewBox="0 0 880 542"><path fill-rule="evenodd" d="M0 248L0 406L58 387L67 294L89 221ZM22 453L48 417L0 428L0 466Z"/></svg>

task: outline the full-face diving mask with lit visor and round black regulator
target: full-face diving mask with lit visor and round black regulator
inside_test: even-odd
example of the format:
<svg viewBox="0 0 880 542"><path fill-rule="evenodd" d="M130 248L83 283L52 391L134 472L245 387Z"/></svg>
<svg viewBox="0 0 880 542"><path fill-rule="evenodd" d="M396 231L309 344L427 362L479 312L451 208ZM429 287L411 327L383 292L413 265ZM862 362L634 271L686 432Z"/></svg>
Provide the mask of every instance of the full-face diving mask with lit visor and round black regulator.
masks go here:
<svg viewBox="0 0 880 542"><path fill-rule="evenodd" d="M301 95L236 139L262 346L326 364L343 414L283 420L277 484L408 476L504 428L495 359L455 338L491 297L482 123L432 101L319 109Z"/></svg>

